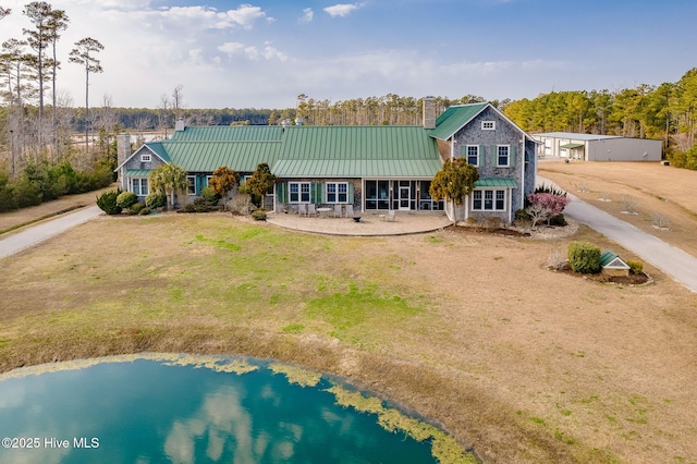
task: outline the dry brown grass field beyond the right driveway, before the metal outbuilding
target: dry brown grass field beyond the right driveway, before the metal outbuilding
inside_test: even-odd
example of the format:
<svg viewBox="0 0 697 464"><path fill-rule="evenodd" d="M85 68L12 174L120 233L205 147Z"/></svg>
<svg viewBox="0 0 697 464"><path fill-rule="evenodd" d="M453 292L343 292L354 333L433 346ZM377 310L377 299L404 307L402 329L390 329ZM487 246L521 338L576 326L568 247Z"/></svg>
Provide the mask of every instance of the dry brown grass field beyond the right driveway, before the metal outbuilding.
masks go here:
<svg viewBox="0 0 697 464"><path fill-rule="evenodd" d="M539 175L645 232L697 256L697 171L658 162L540 162ZM585 187L585 188L580 188ZM582 190L588 188L588 192ZM602 202L607 196L610 202ZM633 198L638 215L627 215ZM652 227L652 215L670 221L668 230Z"/></svg>

